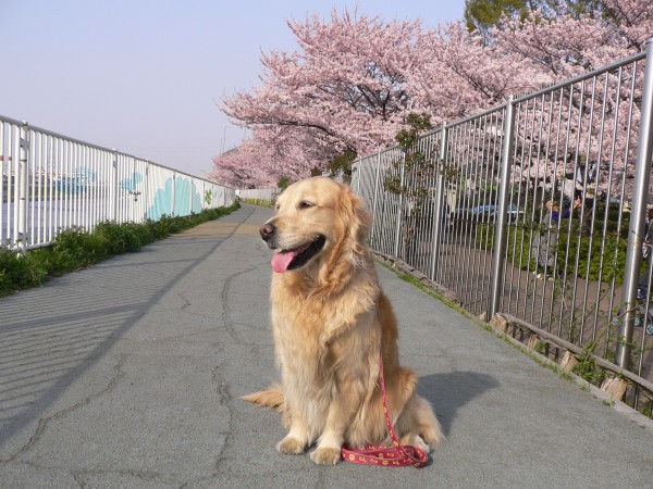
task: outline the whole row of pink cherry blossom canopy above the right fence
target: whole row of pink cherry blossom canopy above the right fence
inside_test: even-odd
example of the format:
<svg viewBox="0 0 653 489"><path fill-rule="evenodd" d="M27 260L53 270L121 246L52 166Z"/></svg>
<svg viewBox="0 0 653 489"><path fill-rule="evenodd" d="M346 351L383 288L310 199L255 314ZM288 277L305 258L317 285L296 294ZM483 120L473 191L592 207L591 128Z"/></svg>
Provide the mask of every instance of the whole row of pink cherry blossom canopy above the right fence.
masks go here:
<svg viewBox="0 0 653 489"><path fill-rule="evenodd" d="M288 21L298 50L263 54L260 86L223 99L222 110L252 137L214 159L213 177L234 186L301 178L338 155L394 146L410 113L429 114L434 126L452 122L636 53L653 34L650 0L584 2L580 13L577 2L540 3L482 34L461 22L428 29L419 20L386 22L357 10ZM613 116L627 103L605 84L593 97ZM568 97L574 115L591 96ZM624 138L618 145L628 146ZM583 158L605 154L599 146Z"/></svg>

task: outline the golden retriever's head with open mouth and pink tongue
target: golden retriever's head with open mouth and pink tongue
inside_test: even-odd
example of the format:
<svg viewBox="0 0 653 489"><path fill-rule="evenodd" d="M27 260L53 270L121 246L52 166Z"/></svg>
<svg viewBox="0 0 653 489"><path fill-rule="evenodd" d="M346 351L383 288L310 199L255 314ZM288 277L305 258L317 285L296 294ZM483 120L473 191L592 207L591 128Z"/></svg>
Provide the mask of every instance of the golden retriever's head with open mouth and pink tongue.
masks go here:
<svg viewBox="0 0 653 489"><path fill-rule="evenodd" d="M276 273L335 266L365 253L371 216L349 187L313 177L291 185L276 201L276 215L260 228L274 250Z"/></svg>

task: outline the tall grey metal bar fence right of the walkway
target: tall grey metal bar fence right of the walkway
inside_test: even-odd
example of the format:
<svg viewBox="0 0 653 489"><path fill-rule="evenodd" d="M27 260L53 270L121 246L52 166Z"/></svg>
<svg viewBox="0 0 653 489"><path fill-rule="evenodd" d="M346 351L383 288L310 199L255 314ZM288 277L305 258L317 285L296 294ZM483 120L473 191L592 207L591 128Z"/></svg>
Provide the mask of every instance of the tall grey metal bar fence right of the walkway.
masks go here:
<svg viewBox="0 0 653 489"><path fill-rule="evenodd" d="M646 53L445 124L411 148L357 160L352 187L374 215L371 247L454 291L475 315L532 325L650 387L646 57L652 42Z"/></svg>

